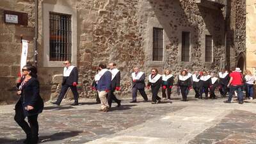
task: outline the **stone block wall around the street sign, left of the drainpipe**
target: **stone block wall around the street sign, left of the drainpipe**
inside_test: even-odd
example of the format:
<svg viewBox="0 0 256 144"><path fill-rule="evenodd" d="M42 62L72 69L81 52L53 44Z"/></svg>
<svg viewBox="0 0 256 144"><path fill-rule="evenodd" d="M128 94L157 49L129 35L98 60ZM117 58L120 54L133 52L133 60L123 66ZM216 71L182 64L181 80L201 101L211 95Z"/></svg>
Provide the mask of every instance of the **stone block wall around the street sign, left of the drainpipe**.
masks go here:
<svg viewBox="0 0 256 144"><path fill-rule="evenodd" d="M15 79L20 70L20 35L29 40L28 60L31 60L33 49L33 3L31 1L0 1L0 104L17 100ZM28 13L28 27L4 24L4 10L15 10Z"/></svg>

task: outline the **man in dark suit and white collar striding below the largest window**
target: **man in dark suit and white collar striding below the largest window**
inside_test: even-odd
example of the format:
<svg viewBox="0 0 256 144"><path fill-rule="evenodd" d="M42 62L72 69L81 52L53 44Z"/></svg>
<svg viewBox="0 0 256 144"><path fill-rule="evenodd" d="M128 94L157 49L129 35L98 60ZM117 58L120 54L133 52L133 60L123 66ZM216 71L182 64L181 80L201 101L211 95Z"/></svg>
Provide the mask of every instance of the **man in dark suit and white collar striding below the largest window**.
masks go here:
<svg viewBox="0 0 256 144"><path fill-rule="evenodd" d="M52 104L56 104L60 106L61 100L65 96L68 88L71 89L75 102L71 104L72 106L78 105L78 92L77 92L77 81L78 81L78 70L77 67L71 65L70 61L65 61L65 67L63 70L63 80L62 80L62 87L60 90L60 95L56 102L52 102Z"/></svg>

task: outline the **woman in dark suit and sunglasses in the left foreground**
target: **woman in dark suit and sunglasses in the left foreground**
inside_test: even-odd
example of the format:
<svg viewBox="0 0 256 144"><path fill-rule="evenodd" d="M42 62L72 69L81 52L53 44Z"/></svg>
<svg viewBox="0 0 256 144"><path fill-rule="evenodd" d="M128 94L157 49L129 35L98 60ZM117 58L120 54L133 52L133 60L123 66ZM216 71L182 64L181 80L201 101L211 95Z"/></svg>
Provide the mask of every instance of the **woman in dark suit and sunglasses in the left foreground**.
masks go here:
<svg viewBox="0 0 256 144"><path fill-rule="evenodd" d="M20 96L15 105L14 120L26 133L24 143L33 144L38 142L38 114L44 109L44 101L39 94L39 82L36 79L36 67L26 65L22 68L22 78L17 83ZM25 118L28 117L28 123Z"/></svg>

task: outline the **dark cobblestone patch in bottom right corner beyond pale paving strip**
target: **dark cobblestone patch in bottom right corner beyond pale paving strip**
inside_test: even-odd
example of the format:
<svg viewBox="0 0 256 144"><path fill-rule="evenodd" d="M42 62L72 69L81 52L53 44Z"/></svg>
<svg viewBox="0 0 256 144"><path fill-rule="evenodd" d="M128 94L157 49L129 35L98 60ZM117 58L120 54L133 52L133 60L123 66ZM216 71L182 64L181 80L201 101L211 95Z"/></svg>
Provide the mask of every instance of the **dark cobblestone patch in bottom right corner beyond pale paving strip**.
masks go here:
<svg viewBox="0 0 256 144"><path fill-rule="evenodd" d="M225 116L219 124L211 127L189 144L255 144L256 115L248 111L236 110Z"/></svg>

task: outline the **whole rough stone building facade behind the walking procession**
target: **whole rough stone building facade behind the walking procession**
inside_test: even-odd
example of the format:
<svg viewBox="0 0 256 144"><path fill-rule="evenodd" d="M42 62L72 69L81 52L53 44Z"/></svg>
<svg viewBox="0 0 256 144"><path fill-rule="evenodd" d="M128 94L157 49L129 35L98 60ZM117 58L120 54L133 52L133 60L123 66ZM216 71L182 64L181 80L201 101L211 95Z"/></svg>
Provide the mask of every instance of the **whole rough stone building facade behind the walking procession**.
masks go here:
<svg viewBox="0 0 256 144"><path fill-rule="evenodd" d="M14 85L19 71L20 35L31 41L28 59L33 61L34 8L31 0L0 1L0 13L28 13L28 26L6 24L0 16L3 104L17 99ZM72 19L71 60L79 68L81 97L95 95L90 84L100 62L117 63L123 96L131 92L132 67L138 66L146 74L152 67L160 73L168 68L177 76L183 68L191 72L217 71L237 65L234 61L239 54L245 54L245 23L240 20L245 3L238 0L232 0L230 5L211 0L39 0L38 12L38 79L45 100L58 95L63 70L63 61L49 60L51 13L66 14ZM154 40L163 48L157 50L160 53L154 53ZM154 60L154 55L160 59Z"/></svg>

